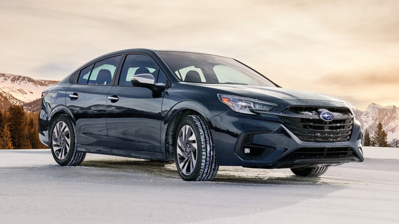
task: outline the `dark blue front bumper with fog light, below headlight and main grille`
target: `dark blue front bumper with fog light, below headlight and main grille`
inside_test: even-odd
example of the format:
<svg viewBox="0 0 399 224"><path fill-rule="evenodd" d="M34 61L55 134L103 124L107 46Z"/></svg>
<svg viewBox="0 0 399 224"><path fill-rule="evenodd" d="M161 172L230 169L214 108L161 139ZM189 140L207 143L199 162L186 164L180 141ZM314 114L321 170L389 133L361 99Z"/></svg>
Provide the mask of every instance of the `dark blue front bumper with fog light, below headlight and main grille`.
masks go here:
<svg viewBox="0 0 399 224"><path fill-rule="evenodd" d="M297 168L362 162L360 123L345 142L304 142L277 115L226 111L209 120L217 162L222 166ZM246 149L249 149L249 153Z"/></svg>

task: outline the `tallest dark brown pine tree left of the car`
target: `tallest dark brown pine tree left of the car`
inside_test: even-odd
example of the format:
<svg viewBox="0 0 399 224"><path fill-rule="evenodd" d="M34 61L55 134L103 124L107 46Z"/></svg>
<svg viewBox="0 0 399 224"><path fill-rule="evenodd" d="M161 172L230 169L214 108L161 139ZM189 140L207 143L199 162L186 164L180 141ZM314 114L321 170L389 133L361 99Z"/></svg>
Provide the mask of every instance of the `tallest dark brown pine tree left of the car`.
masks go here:
<svg viewBox="0 0 399 224"><path fill-rule="evenodd" d="M11 140L14 148L26 149L28 147L27 139L27 117L22 106L11 105L8 108L9 116L7 125L11 133Z"/></svg>

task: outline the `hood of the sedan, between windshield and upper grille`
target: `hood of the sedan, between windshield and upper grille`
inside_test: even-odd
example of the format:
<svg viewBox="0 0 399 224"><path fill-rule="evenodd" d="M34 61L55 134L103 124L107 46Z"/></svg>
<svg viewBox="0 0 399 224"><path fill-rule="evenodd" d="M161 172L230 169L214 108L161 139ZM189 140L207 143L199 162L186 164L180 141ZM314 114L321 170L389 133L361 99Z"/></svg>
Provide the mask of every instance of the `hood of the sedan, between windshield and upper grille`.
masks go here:
<svg viewBox="0 0 399 224"><path fill-rule="evenodd" d="M342 100L318 93L295 91L280 87L264 87L254 85L228 85L228 84L197 84L189 83L202 88L207 88L212 92L220 94L230 94L235 96L247 97L263 101L280 101L280 100L318 100L343 102Z"/></svg>

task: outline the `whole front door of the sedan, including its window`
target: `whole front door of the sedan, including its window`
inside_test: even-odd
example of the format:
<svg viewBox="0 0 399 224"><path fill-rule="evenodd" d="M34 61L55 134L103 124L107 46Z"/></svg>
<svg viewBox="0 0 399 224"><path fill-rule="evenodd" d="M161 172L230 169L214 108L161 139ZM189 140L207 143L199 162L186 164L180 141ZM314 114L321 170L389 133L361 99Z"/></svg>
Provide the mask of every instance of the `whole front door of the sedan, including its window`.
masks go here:
<svg viewBox="0 0 399 224"><path fill-rule="evenodd" d="M146 87L132 86L130 77L152 74L166 83L158 64L147 55L127 55L119 80L108 93L106 124L108 147L159 152L161 109L164 92L154 94Z"/></svg>

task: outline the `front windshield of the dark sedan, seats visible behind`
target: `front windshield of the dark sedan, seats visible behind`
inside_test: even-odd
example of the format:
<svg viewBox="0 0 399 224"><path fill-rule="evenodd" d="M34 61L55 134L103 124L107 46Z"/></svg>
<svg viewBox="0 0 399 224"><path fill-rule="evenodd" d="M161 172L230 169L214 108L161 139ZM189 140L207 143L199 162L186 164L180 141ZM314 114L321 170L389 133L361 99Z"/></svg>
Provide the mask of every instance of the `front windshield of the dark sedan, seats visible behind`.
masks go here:
<svg viewBox="0 0 399 224"><path fill-rule="evenodd" d="M276 87L267 78L232 58L188 52L157 53L181 81Z"/></svg>

